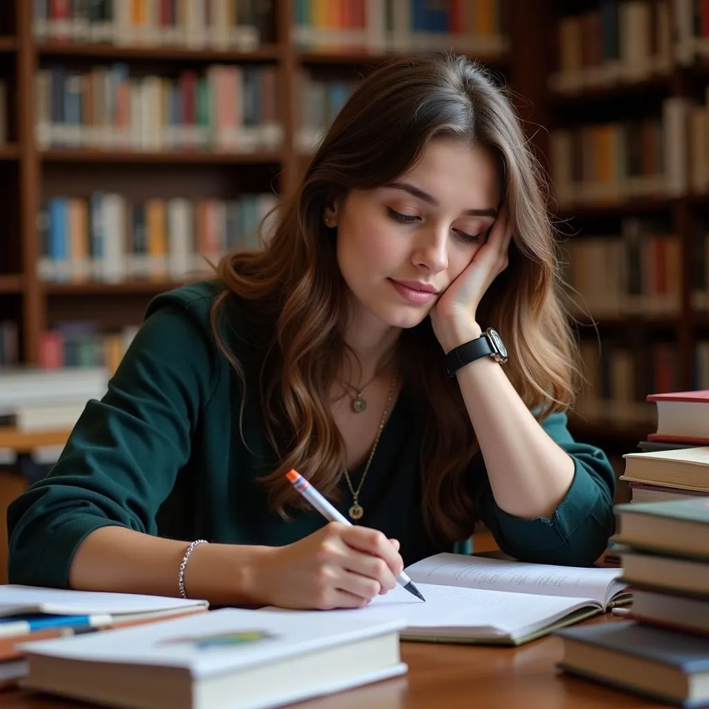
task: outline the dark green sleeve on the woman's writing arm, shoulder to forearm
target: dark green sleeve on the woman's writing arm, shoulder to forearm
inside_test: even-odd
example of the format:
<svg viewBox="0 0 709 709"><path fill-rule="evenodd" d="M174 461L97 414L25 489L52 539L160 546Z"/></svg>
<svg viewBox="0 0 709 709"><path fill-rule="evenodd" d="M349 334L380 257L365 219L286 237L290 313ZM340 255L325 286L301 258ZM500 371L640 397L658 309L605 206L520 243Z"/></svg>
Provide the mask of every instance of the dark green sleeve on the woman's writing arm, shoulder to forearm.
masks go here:
<svg viewBox="0 0 709 709"><path fill-rule="evenodd" d="M11 583L67 587L74 553L99 527L156 533L157 510L189 459L213 391L214 352L184 305L149 314L50 474L11 503Z"/></svg>

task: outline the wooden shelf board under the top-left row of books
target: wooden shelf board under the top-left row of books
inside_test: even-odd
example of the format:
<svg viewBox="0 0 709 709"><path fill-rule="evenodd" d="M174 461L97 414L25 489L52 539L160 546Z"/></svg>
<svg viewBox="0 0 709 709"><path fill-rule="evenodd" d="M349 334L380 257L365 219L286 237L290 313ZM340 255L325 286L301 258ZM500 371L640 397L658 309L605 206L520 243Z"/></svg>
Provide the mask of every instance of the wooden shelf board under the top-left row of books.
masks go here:
<svg viewBox="0 0 709 709"><path fill-rule="evenodd" d="M91 59L162 60L190 62L275 62L281 58L279 45L262 45L253 52L189 49L185 47L140 47L107 43L47 41L35 44L43 57L91 57Z"/></svg>

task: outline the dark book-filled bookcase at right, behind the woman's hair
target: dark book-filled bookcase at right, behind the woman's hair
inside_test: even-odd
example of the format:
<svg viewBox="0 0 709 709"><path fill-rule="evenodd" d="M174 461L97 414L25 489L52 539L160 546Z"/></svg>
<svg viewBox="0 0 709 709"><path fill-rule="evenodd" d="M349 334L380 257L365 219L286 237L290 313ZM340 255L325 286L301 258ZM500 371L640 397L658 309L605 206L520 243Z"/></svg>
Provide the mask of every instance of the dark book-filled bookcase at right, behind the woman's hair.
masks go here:
<svg viewBox="0 0 709 709"><path fill-rule="evenodd" d="M628 452L655 427L645 394L709 387L707 9L676 0L551 8L549 163L570 271L578 250L586 272L571 280L597 325L581 316L600 396L573 426Z"/></svg>

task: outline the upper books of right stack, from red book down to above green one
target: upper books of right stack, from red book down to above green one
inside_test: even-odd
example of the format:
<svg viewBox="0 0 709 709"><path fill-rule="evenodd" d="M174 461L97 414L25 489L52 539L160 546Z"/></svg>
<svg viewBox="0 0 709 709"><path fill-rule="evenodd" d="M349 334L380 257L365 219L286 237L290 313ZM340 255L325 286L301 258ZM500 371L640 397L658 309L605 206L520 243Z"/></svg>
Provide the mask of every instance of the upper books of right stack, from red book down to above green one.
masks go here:
<svg viewBox="0 0 709 709"><path fill-rule="evenodd" d="M709 391L651 394L657 405L657 431L625 457L620 477L630 485L632 502L681 500L709 495L705 447L709 446Z"/></svg>

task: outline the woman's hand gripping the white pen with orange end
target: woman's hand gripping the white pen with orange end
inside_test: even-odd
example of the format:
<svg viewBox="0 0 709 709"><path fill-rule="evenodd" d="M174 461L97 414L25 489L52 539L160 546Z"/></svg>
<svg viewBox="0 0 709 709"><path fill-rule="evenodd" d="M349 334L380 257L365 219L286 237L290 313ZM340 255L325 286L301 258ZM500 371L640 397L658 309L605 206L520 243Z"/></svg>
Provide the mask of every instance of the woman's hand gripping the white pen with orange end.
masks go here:
<svg viewBox="0 0 709 709"><path fill-rule="evenodd" d="M330 522L298 542L274 547L254 570L264 603L281 608L362 608L396 586L403 570L397 540Z"/></svg>

